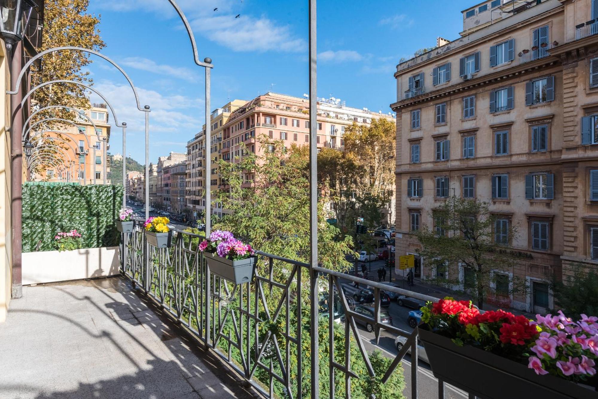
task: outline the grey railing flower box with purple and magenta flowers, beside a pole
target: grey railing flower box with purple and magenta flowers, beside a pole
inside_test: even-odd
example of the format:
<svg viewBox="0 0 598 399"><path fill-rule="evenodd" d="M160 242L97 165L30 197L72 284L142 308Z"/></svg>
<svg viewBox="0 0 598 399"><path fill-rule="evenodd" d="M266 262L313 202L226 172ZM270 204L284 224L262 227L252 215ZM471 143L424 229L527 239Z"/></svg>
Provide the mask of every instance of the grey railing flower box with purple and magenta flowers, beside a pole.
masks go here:
<svg viewBox="0 0 598 399"><path fill-rule="evenodd" d="M234 284L249 283L254 272L254 250L234 238L230 231L216 230L199 244L210 271Z"/></svg>

